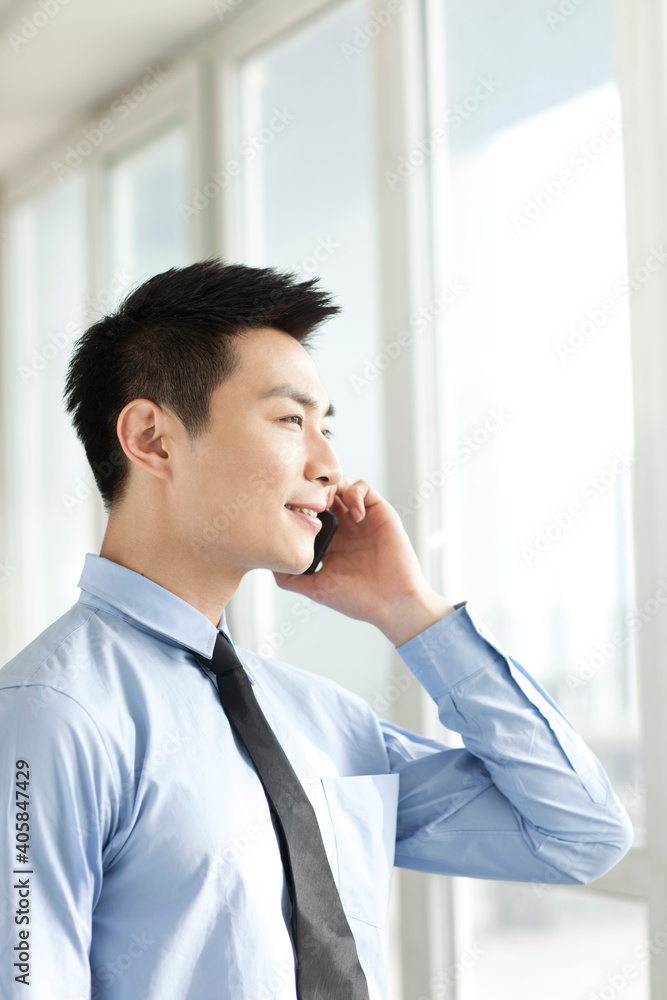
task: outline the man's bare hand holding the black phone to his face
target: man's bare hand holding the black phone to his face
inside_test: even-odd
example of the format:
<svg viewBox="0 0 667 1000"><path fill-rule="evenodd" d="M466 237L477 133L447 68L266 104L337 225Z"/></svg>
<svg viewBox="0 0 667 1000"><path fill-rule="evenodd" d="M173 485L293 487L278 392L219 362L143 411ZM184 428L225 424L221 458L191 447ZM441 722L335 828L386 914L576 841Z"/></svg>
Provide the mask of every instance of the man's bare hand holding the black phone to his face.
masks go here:
<svg viewBox="0 0 667 1000"><path fill-rule="evenodd" d="M329 509L339 525L322 569L274 572L279 587L370 622L394 645L454 611L426 580L397 511L370 483L344 476Z"/></svg>

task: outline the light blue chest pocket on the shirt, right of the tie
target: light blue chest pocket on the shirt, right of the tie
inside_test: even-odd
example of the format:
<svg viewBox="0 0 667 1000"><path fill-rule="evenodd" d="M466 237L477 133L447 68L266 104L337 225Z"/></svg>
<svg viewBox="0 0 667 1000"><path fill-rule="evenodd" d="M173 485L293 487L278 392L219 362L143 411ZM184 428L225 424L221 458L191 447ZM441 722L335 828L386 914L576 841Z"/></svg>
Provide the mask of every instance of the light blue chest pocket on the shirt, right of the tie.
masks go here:
<svg viewBox="0 0 667 1000"><path fill-rule="evenodd" d="M343 910L384 927L396 851L398 774L320 779L333 827L332 866Z"/></svg>

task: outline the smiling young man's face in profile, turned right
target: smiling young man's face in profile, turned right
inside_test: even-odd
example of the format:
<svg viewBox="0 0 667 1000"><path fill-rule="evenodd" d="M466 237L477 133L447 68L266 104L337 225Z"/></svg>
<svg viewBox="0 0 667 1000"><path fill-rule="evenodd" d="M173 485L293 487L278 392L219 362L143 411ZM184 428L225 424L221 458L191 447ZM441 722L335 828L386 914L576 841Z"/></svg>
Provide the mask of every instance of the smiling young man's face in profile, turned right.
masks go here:
<svg viewBox="0 0 667 1000"><path fill-rule="evenodd" d="M175 456L185 541L217 567L301 573L313 560L319 519L288 505L330 506L343 475L325 433L329 399L312 358L289 334L253 330L234 349L239 367L211 397L208 431Z"/></svg>

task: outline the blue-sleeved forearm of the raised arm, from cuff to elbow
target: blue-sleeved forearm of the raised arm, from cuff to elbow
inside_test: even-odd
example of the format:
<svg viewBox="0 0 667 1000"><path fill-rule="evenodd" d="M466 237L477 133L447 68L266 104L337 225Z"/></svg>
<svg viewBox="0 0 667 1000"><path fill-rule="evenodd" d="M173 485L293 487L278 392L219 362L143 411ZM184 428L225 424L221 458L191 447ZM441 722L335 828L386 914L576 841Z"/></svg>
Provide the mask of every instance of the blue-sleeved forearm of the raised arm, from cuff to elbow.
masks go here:
<svg viewBox="0 0 667 1000"><path fill-rule="evenodd" d="M628 849L632 828L597 758L552 700L459 607L398 648L507 798L530 849L545 863L602 874Z"/></svg>

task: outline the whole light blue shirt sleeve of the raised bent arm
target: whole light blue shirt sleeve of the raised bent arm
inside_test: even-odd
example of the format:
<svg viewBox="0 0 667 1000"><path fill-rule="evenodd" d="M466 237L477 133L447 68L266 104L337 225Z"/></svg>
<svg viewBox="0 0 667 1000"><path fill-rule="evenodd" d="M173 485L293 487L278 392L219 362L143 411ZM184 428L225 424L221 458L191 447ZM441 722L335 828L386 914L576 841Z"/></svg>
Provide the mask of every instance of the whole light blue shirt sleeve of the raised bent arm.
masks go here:
<svg viewBox="0 0 667 1000"><path fill-rule="evenodd" d="M400 777L395 864L519 882L599 878L633 837L602 765L475 610L455 609L397 647L464 748L380 720Z"/></svg>

